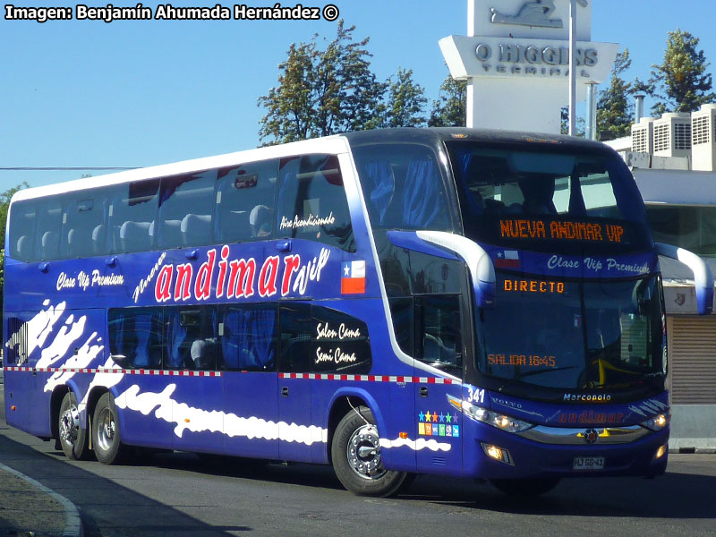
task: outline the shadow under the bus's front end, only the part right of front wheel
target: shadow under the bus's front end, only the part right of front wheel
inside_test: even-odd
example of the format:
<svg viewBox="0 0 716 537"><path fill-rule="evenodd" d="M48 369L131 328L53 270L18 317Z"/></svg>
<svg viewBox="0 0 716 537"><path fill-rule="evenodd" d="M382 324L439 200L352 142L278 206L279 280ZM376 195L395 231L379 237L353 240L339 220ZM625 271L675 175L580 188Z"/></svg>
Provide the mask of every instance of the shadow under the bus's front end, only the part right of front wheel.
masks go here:
<svg viewBox="0 0 716 537"><path fill-rule="evenodd" d="M667 472L655 479L565 479L554 490L530 498L507 496L489 482L446 484L422 476L402 497L514 515L712 519L713 490L714 476Z"/></svg>

